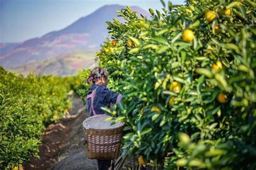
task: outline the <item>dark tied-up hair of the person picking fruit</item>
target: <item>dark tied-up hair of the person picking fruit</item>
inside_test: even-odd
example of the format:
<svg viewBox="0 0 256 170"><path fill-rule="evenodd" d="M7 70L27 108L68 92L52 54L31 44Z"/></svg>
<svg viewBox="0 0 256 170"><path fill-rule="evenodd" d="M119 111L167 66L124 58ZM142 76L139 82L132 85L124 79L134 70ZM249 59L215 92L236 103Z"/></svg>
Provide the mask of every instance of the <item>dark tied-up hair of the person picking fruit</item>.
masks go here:
<svg viewBox="0 0 256 170"><path fill-rule="evenodd" d="M105 68L95 67L91 70L91 74L87 79L87 83L91 83L91 82L95 83L101 80L102 77L104 80L107 80L107 76L109 76L109 73Z"/></svg>

